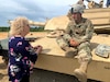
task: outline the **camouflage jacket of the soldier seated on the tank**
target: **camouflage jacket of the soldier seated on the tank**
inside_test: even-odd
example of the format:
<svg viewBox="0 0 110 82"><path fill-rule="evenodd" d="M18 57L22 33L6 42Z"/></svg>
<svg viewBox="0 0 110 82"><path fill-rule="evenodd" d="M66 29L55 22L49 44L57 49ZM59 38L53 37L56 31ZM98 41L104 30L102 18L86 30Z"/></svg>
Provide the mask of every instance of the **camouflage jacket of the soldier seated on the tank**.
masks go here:
<svg viewBox="0 0 110 82"><path fill-rule="evenodd" d="M66 28L66 34L74 38L76 42L84 43L89 42L92 37L94 33L94 25L91 21L84 19L79 24L76 24L74 20L68 23Z"/></svg>

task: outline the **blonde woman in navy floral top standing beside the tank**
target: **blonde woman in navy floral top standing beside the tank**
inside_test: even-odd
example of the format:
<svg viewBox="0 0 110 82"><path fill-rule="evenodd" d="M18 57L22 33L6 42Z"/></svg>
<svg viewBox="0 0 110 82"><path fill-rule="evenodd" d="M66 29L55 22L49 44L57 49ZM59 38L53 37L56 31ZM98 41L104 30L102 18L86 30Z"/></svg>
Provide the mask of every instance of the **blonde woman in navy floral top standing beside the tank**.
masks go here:
<svg viewBox="0 0 110 82"><path fill-rule="evenodd" d="M42 46L32 47L24 36L30 32L29 21L24 16L11 23L9 33L9 81L30 82L30 72L42 51Z"/></svg>

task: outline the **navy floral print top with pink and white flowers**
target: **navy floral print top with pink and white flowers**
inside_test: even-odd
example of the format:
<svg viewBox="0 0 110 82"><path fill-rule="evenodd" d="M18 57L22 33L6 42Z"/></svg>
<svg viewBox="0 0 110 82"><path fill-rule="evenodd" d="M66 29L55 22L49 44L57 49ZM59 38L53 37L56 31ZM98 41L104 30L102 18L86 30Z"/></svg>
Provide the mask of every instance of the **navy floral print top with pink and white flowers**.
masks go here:
<svg viewBox="0 0 110 82"><path fill-rule="evenodd" d="M9 38L9 81L20 82L23 75L30 77L33 63L37 55L24 37Z"/></svg>

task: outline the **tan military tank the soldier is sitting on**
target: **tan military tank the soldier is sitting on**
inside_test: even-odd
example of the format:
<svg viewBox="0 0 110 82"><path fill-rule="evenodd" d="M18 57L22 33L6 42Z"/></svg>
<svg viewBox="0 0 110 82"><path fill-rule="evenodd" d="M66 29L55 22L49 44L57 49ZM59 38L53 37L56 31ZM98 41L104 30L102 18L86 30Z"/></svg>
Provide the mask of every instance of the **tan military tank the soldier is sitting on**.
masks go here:
<svg viewBox="0 0 110 82"><path fill-rule="evenodd" d="M90 42L92 61L87 70L88 82L110 82L110 57L103 58L95 54L98 45L110 46L110 9L86 9L82 16L91 20L95 25L95 35ZM55 31L65 30L68 22L67 15L61 15L41 24L45 26L47 35L31 42L33 46L43 46L43 51L38 56L34 72L31 75L31 82L78 82L77 78L74 77L74 70L79 67L77 59L65 57L65 51L56 43L57 33ZM40 23L30 22L30 24L38 25ZM8 39L1 39L0 45L1 55L6 58Z"/></svg>

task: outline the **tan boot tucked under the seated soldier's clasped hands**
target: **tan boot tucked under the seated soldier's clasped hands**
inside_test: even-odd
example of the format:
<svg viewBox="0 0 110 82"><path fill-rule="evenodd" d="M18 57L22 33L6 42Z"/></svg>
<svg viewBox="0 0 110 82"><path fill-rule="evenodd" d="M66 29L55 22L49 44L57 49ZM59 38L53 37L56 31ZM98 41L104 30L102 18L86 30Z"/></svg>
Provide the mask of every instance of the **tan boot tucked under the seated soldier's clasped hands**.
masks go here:
<svg viewBox="0 0 110 82"><path fill-rule="evenodd" d="M73 48L73 47L62 47L62 49L64 49L65 52L65 57L75 57L77 55L77 49Z"/></svg>

